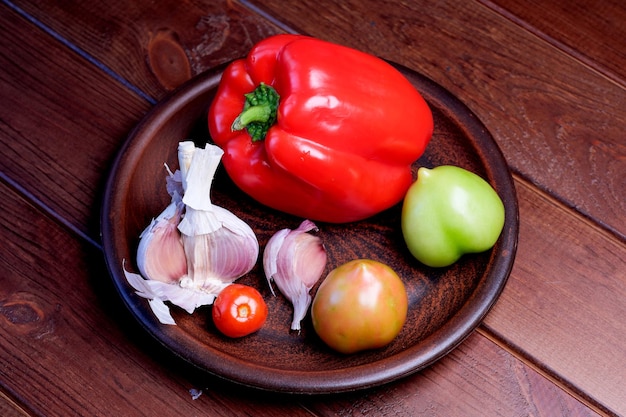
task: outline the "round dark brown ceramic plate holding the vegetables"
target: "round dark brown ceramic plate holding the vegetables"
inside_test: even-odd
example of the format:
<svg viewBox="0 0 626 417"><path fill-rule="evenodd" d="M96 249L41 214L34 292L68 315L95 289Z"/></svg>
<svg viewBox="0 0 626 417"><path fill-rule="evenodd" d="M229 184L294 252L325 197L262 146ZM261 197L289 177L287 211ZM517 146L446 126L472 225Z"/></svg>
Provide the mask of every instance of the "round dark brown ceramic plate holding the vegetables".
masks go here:
<svg viewBox="0 0 626 417"><path fill-rule="evenodd" d="M169 203L163 163L177 168L178 142L193 139L204 145L210 139L206 114L221 72L205 73L157 104L141 121L120 150L104 195L102 239L107 265L120 296L148 333L207 373L290 393L342 392L393 381L431 365L469 336L500 295L513 265L518 234L513 181L498 146L467 107L432 81L398 68L428 101L435 119L432 141L414 168L453 164L488 180L506 207L504 231L496 246L466 256L452 267L431 269L413 259L404 245L400 205L353 224L318 223L318 235L329 255L326 272L352 259L372 258L392 266L406 285L406 325L379 350L335 353L317 337L309 317L300 334L290 332L291 305L279 293L271 295L260 260L239 281L259 289L268 304L268 321L256 334L242 339L221 336L211 323L211 307L193 315L172 308L177 326L160 324L147 300L128 285L122 261L136 271L138 236ZM250 224L261 250L273 233L296 228L302 220L251 200L221 168L212 198Z"/></svg>

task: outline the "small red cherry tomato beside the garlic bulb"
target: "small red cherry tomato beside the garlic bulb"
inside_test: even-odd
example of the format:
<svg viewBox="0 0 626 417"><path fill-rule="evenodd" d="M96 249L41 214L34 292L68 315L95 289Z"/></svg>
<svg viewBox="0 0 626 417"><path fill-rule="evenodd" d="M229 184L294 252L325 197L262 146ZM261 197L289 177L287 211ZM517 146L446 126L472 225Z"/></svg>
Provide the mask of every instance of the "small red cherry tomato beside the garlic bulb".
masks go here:
<svg viewBox="0 0 626 417"><path fill-rule="evenodd" d="M231 284L213 302L213 323L229 337L243 337L259 330L267 319L267 304L254 288Z"/></svg>

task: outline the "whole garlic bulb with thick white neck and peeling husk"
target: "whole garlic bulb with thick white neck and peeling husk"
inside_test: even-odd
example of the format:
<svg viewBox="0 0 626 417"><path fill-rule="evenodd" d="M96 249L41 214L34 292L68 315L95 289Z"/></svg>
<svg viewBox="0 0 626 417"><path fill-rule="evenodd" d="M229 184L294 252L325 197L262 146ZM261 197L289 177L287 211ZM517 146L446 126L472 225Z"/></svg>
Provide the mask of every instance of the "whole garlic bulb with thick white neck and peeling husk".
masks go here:
<svg viewBox="0 0 626 417"><path fill-rule="evenodd" d="M175 324L165 301L191 314L250 272L259 255L250 226L211 203L213 176L224 152L209 144L196 148L191 141L180 142L178 151L180 170L172 174L168 169L172 202L141 235L137 265L143 277L124 269L165 324Z"/></svg>

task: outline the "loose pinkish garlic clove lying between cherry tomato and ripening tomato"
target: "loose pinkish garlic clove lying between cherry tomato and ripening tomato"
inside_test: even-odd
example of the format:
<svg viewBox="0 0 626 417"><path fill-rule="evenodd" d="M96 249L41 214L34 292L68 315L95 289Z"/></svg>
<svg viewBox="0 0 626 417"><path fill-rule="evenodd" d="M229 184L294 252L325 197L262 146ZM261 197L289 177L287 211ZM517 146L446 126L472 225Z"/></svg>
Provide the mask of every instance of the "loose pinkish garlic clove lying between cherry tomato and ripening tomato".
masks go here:
<svg viewBox="0 0 626 417"><path fill-rule="evenodd" d="M263 253L263 269L272 294L272 281L293 305L291 330L300 330L300 322L311 305L309 291L326 268L326 249L310 220L295 230L283 229L270 238Z"/></svg>

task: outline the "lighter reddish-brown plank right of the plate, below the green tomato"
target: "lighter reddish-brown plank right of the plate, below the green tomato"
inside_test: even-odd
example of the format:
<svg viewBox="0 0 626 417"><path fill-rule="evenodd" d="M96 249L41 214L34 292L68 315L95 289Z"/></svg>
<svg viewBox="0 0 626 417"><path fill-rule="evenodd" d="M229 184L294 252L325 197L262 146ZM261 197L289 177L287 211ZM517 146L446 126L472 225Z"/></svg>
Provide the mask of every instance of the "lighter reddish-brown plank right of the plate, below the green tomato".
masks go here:
<svg viewBox="0 0 626 417"><path fill-rule="evenodd" d="M580 395L626 415L626 245L529 184L516 186L520 262L486 326Z"/></svg>

